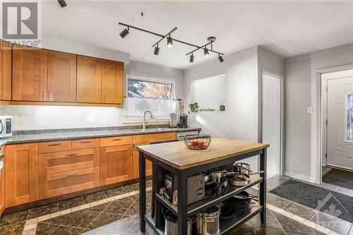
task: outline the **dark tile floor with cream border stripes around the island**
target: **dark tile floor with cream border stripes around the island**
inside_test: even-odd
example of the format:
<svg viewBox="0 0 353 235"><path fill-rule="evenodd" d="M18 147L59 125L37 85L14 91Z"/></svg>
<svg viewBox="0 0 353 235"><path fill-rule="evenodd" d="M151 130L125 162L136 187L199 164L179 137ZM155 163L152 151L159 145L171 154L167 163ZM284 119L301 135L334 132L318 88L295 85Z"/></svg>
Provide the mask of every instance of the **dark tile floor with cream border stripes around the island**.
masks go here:
<svg viewBox="0 0 353 235"><path fill-rule="evenodd" d="M287 176L273 176L268 179L268 191L288 179ZM253 188L249 191L253 194L258 193ZM150 200L151 192L148 191L148 201ZM268 193L267 202L266 227L261 227L260 217L257 215L230 234L353 235L352 224L342 219L298 205L272 193ZM138 210L138 184L135 183L4 215L0 219L0 234L140 234ZM153 232L148 228L146 234Z"/></svg>

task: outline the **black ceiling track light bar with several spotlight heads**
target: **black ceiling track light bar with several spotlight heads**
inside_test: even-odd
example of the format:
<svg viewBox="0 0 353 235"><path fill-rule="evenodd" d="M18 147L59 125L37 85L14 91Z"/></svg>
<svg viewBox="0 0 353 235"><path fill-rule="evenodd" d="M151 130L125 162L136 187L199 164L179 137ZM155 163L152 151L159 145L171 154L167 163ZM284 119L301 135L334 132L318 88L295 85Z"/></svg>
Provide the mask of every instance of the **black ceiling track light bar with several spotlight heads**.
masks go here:
<svg viewBox="0 0 353 235"><path fill-rule="evenodd" d="M135 27L135 26L132 26L132 25L127 25L127 24L125 24L125 23L120 23L120 22L119 22L119 25L125 26L126 28L128 28L128 30L129 30L130 28L133 28L134 30L140 30L140 31L143 31L143 32L148 32L148 33L150 33L150 34L152 34L152 35L161 37L161 39L160 39L158 42L156 42L155 44L153 44L153 46L152 46L152 47L155 47L155 46L157 45L157 47L155 47L155 52L154 52L155 55L158 55L158 53L159 53L159 49L160 49L160 47L158 47L159 42L162 41L164 38L166 38L166 37L168 36L168 37L167 37L167 46L168 46L168 47L172 47L173 41L174 41L174 42L179 42L179 43L181 43L181 44L186 44L186 45L189 45L189 46L191 46L191 47L196 47L195 50L193 50L192 52L189 52L188 54L186 54L186 55L191 54L190 57L191 57L192 59L190 58L190 62L193 62L193 58L194 58L193 52L196 52L198 49L203 49L205 56L208 55L208 52L213 52L213 53L215 53L215 54L218 55L218 59L220 59L220 62L221 62L221 63L224 61L224 60L222 59L222 55L224 55L224 54L223 54L222 52L217 52L217 51L213 50L212 43L215 42L215 37L208 37L208 41L209 41L209 42L208 42L207 44L205 44L205 45L199 47L199 46L196 45L196 44L191 44L191 43L189 43L189 42L184 42L184 41L177 40L177 39L175 39L175 38L170 37L170 34L171 34L172 32L174 32L175 30L177 30L177 28L174 28L172 31L170 31L169 33L167 33L167 35L161 35L161 34L159 34L159 33L157 33L157 32L152 32L152 31L150 31L150 30L144 30L144 29L142 29L142 28L138 28L138 27ZM125 29L125 31L128 31L128 30ZM126 35L124 35L124 36L126 36ZM123 37L123 38L124 38L124 37ZM206 48L206 46L208 46L208 44L211 44L211 49L207 49L207 48ZM206 51L207 51L207 52L206 52Z"/></svg>

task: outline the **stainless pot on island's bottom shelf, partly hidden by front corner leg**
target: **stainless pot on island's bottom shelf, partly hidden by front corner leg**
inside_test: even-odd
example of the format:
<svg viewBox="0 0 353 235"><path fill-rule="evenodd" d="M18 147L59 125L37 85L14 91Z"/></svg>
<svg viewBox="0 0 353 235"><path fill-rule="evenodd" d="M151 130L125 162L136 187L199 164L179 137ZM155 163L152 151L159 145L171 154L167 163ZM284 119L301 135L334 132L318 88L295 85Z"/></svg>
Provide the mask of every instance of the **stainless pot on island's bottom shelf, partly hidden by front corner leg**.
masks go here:
<svg viewBox="0 0 353 235"><path fill-rule="evenodd" d="M174 215L171 210L168 210L166 207L162 209L164 215L164 234L165 235L178 235L178 217ZM188 218L188 234L193 234L193 224L196 222L196 217Z"/></svg>

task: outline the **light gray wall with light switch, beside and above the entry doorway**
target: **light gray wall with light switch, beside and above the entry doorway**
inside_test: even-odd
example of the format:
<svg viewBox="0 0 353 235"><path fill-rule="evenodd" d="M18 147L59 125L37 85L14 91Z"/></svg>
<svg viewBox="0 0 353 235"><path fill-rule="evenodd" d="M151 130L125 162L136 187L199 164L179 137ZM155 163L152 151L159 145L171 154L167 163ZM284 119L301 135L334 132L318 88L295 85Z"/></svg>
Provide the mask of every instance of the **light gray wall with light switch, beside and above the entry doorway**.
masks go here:
<svg viewBox="0 0 353 235"><path fill-rule="evenodd" d="M316 70L353 64L353 45L285 62L285 174L307 181L316 175L320 80ZM306 112L307 107L313 113Z"/></svg>

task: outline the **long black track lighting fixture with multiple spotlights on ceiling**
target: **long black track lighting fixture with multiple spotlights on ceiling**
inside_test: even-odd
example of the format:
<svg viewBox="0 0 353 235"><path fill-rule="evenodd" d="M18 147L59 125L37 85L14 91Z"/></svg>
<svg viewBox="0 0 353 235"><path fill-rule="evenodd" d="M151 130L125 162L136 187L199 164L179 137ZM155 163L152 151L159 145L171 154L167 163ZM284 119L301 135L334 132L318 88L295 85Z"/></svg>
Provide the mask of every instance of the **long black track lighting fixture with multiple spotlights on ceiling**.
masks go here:
<svg viewBox="0 0 353 235"><path fill-rule="evenodd" d="M186 44L190 47L196 47L196 49L193 49L193 51L189 52L188 54L186 54L186 56L189 56L190 55L190 58L189 58L189 61L191 63L193 63L195 57L193 56L193 52L196 52L198 51L199 49L203 49L203 54L204 56L209 56L210 55L210 52L213 52L215 54L218 54L218 59L220 60L220 62L222 63L223 62L223 58L222 56L224 55L223 53L221 52L217 52L213 49L213 43L215 42L216 38L215 37L208 37L207 40L208 40L208 43L204 44L203 46L198 46L196 44L191 44L189 42L185 42L185 41L181 41L181 40L177 40L175 38L172 38L170 35L175 31L177 30L177 28L174 28L172 29L170 32L167 32L167 34L165 35L161 35L157 32L152 32L152 31L149 31L149 30L145 30L143 28L137 28L133 25L126 25L124 23L119 23L119 25L123 25L124 27L126 27L121 33L120 33L120 36L122 38L126 37L126 35L128 35L128 31L130 28L133 28L134 30L139 30L139 31L142 31L142 32L148 32L149 34L151 35L155 35L157 37L160 37L160 40L158 40L157 42L155 42L155 44L152 45L152 48L154 48L154 51L153 51L153 54L155 55L158 55L160 53L160 47L158 47L158 44L164 40L165 38L167 38L167 47L173 47L173 41L174 42L179 42L181 44ZM210 49L208 49L207 47L209 46Z"/></svg>

